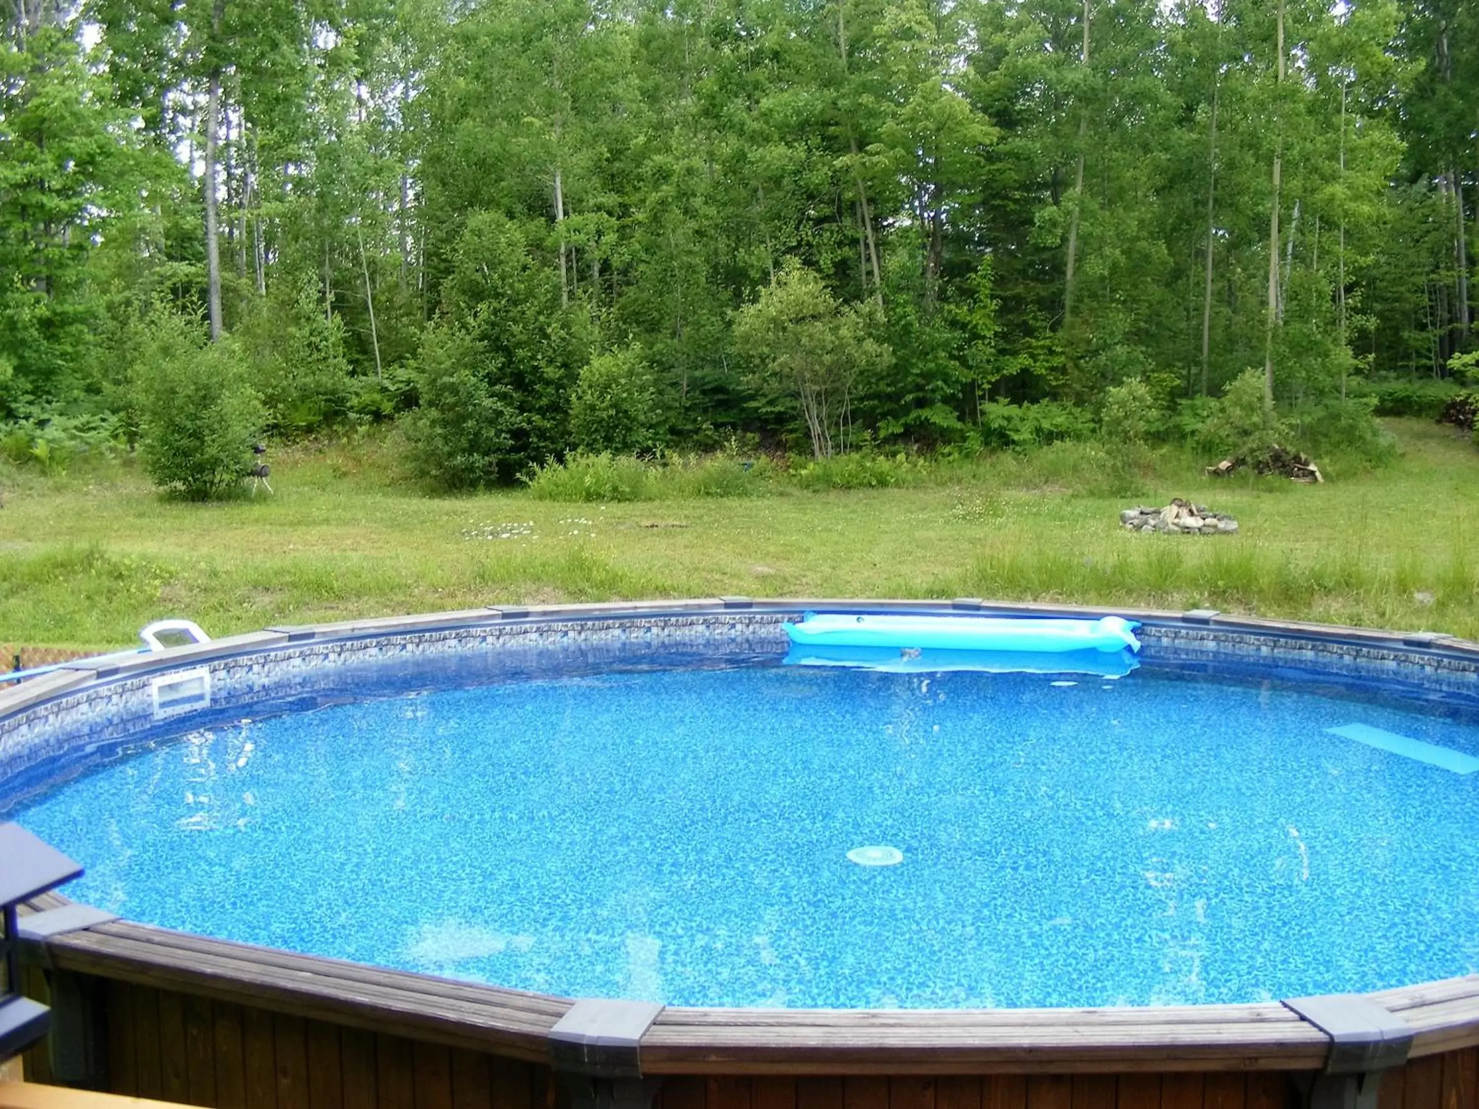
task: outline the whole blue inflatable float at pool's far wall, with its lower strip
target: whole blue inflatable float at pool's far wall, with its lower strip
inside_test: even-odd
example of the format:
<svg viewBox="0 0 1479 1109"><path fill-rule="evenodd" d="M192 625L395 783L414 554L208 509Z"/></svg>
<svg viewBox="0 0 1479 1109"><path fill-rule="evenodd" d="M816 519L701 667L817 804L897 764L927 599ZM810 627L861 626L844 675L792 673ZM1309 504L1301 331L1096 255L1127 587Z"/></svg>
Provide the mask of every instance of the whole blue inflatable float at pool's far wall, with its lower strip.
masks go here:
<svg viewBox="0 0 1479 1109"><path fill-rule="evenodd" d="M808 612L787 624L787 665L920 673L1094 674L1124 677L1139 662L1139 623L1037 617Z"/></svg>

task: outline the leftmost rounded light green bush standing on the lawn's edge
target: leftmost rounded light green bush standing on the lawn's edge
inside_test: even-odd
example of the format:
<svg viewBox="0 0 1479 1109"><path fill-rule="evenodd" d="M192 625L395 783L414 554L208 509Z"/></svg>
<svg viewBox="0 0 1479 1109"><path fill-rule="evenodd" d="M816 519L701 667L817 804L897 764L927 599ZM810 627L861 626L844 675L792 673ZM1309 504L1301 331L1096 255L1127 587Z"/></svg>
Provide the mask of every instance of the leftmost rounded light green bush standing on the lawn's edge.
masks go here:
<svg viewBox="0 0 1479 1109"><path fill-rule="evenodd" d="M241 349L204 343L198 319L155 312L135 364L143 469L161 489L188 500L226 497L251 466L263 411Z"/></svg>

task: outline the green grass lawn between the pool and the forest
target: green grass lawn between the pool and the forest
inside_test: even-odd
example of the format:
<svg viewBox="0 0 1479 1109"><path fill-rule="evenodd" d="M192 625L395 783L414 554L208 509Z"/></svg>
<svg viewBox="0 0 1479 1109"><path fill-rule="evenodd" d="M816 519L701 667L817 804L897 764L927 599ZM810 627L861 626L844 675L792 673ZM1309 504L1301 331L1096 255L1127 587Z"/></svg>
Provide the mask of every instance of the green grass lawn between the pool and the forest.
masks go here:
<svg viewBox="0 0 1479 1109"><path fill-rule="evenodd" d="M1134 473L1063 447L917 484L617 504L427 497L380 445L274 457L272 497L160 500L129 464L0 469L0 643L106 648L167 615L213 634L498 602L742 593L1197 608L1479 637L1479 451L1393 421L1402 457L1321 486ZM674 486L679 488L679 486ZM1235 537L1136 535L1128 504L1233 513ZM500 537L503 535L503 537Z"/></svg>

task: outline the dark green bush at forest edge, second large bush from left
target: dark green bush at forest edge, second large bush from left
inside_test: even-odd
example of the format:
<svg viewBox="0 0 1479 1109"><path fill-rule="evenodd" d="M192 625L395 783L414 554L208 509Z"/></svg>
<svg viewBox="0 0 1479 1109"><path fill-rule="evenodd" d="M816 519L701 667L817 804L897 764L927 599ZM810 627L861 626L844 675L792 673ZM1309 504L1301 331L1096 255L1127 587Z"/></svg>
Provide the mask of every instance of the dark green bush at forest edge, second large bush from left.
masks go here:
<svg viewBox="0 0 1479 1109"><path fill-rule="evenodd" d="M447 489L493 485L507 461L519 417L494 383L495 361L466 330L426 330L413 377L422 405L405 417L411 472Z"/></svg>

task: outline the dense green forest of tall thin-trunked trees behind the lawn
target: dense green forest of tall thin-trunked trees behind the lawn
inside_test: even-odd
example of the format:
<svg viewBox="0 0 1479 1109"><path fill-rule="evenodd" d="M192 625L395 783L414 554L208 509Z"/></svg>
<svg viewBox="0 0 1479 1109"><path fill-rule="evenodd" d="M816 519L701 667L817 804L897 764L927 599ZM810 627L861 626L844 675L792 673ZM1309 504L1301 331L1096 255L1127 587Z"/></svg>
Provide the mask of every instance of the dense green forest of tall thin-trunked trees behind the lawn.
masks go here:
<svg viewBox="0 0 1479 1109"><path fill-rule="evenodd" d="M1479 384L1467 0L6 0L0 454L1378 452ZM1472 411L1470 411L1472 416ZM1210 458L1214 460L1214 458Z"/></svg>

